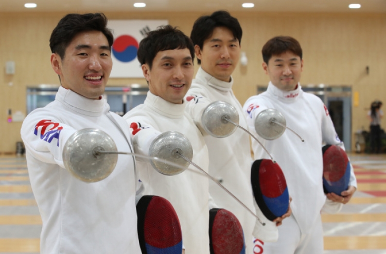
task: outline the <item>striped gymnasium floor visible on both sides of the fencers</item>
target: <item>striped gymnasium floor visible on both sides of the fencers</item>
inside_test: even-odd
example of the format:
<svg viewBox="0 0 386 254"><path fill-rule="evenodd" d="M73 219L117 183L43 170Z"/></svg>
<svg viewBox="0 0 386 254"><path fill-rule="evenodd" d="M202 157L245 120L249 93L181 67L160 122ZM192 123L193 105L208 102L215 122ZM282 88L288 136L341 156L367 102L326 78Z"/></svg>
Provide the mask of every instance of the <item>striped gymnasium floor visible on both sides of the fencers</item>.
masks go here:
<svg viewBox="0 0 386 254"><path fill-rule="evenodd" d="M386 155L349 157L359 191L323 215L325 254L386 254ZM41 227L25 158L0 155L0 254L39 253Z"/></svg>

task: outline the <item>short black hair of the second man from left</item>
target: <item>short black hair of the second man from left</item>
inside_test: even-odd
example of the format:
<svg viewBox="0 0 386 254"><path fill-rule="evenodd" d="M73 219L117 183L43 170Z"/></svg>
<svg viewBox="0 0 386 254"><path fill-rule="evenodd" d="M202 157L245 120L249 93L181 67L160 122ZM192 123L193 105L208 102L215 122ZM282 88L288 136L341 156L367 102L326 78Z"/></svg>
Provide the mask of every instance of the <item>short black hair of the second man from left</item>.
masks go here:
<svg viewBox="0 0 386 254"><path fill-rule="evenodd" d="M160 26L156 30L147 33L147 36L139 43L137 57L141 65L153 66L153 60L159 51L170 49L189 49L192 60L195 58L195 47L190 38L177 27L170 25Z"/></svg>

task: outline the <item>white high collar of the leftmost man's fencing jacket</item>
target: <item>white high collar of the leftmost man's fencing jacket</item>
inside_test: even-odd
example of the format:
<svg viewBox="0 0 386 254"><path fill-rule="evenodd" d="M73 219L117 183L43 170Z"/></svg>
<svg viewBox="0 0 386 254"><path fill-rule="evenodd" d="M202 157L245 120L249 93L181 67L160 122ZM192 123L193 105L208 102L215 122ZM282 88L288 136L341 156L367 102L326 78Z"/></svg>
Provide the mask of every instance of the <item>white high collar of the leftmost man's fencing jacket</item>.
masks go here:
<svg viewBox="0 0 386 254"><path fill-rule="evenodd" d="M100 100L93 100L62 86L59 87L55 100L60 101L66 107L80 114L89 116L99 116L104 111L109 111L110 109L103 96ZM104 106L108 106L107 110L103 110Z"/></svg>

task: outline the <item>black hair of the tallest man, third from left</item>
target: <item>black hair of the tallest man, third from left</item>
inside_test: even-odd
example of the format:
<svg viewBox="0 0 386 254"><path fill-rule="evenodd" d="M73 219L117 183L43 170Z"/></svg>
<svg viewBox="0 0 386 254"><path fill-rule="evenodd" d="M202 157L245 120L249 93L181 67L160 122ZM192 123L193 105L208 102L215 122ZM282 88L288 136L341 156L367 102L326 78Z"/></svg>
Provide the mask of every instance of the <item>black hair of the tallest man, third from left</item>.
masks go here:
<svg viewBox="0 0 386 254"><path fill-rule="evenodd" d="M212 36L213 30L216 27L225 27L231 30L233 36L241 45L242 29L237 18L232 17L227 11L215 11L210 16L201 16L193 25L190 33L190 38L194 45L198 45L200 49L204 46L204 41ZM198 64L201 61L197 60Z"/></svg>

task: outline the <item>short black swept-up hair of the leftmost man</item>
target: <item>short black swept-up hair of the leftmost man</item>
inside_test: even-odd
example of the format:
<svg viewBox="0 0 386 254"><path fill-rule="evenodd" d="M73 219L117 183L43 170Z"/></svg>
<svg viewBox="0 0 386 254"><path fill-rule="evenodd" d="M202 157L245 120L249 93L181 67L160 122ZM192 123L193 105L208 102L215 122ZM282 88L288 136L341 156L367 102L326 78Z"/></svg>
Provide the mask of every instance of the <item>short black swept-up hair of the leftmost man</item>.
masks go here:
<svg viewBox="0 0 386 254"><path fill-rule="evenodd" d="M52 53L57 53L63 59L67 46L73 38L87 31L100 31L106 36L109 47L114 42L114 36L107 28L107 17L103 13L71 13L60 19L58 25L54 28L49 38L49 47Z"/></svg>

